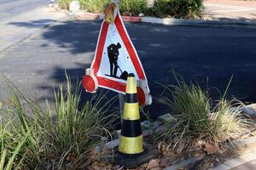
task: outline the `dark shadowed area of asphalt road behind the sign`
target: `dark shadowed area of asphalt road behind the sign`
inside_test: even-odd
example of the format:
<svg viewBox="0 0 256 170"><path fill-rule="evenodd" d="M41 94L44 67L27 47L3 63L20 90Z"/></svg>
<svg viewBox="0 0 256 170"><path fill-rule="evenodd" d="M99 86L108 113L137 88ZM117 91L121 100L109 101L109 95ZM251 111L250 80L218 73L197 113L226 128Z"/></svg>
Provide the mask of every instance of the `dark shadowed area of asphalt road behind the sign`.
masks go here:
<svg viewBox="0 0 256 170"><path fill-rule="evenodd" d="M95 51L100 26L101 22L97 21L57 22L46 28L42 37L54 42L58 48L67 48L70 60L81 54L86 59L86 53ZM126 23L126 28L143 63L154 99L159 98L164 90L159 83L177 84L172 75L174 70L186 82L197 82L203 89L218 88L220 94L224 93L233 75L228 97L236 96L245 102L256 102L255 29L143 23ZM90 64L77 64L67 68L67 74L81 80L84 69L88 67ZM66 82L65 70L64 66L55 67L49 80ZM38 88L52 90L47 86ZM212 99L219 99L217 90L212 88L211 94ZM90 95L83 93L82 99L90 99ZM148 111L154 117L165 113L166 108L154 100L154 105L148 106Z"/></svg>

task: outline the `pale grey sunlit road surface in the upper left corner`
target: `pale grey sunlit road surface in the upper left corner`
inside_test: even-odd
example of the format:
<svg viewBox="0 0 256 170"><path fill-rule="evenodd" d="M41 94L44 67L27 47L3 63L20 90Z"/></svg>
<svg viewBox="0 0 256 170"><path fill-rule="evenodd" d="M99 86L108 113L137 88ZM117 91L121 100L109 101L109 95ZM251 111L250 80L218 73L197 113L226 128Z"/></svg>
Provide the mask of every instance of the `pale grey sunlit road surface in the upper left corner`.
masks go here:
<svg viewBox="0 0 256 170"><path fill-rule="evenodd" d="M47 8L48 3L49 0L0 1L0 53L64 16Z"/></svg>

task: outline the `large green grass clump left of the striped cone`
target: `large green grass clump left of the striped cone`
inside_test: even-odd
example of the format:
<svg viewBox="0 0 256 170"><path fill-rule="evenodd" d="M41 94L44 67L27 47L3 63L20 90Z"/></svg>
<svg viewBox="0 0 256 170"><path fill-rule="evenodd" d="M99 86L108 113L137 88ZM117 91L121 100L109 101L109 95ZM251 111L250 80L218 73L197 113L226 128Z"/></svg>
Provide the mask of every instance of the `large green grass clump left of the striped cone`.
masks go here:
<svg viewBox="0 0 256 170"><path fill-rule="evenodd" d="M9 84L12 99L3 111L0 129L0 156L7 161L2 159L0 167L11 160L18 169L77 169L113 129L116 116L108 109L114 99L99 94L79 105L80 84L73 87L68 77L67 88L61 85L55 91L53 108L42 108Z"/></svg>

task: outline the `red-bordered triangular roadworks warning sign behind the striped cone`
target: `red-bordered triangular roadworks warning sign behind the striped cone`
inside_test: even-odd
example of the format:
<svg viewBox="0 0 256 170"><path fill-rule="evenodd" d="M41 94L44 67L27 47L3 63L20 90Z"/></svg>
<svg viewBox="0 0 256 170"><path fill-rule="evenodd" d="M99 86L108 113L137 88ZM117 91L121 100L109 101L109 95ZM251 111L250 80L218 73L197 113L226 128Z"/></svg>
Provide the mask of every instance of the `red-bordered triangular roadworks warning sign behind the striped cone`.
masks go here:
<svg viewBox="0 0 256 170"><path fill-rule="evenodd" d="M86 82L83 81L84 88L87 91L94 91L99 86L125 94L129 73L133 73L138 82L143 82L143 91L149 94L143 65L118 12L113 23L106 20L102 22L95 58L90 66L90 75L93 77L90 77L90 81L88 78ZM90 82L95 81L96 83L91 85Z"/></svg>

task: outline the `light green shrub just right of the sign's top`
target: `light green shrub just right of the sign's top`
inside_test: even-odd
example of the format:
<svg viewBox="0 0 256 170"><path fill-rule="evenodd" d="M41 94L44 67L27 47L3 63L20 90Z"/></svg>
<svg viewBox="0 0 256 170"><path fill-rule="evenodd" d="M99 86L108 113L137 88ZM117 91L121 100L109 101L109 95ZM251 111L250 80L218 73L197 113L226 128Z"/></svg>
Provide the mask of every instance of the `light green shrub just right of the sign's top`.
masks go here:
<svg viewBox="0 0 256 170"><path fill-rule="evenodd" d="M145 13L147 0L120 0L120 13L124 15L138 15Z"/></svg>

